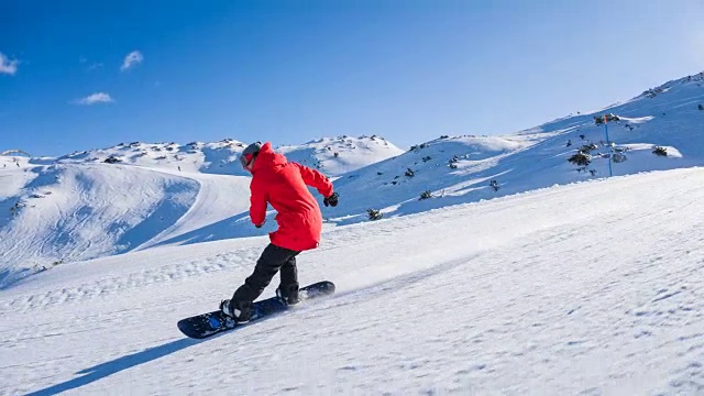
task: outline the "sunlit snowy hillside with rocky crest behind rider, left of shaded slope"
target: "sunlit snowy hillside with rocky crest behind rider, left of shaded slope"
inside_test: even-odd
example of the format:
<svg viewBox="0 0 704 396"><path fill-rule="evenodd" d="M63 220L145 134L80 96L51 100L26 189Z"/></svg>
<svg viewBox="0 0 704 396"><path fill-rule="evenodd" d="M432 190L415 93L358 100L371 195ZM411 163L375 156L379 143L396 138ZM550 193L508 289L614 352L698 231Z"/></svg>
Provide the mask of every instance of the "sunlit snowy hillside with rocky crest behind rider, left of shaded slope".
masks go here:
<svg viewBox="0 0 704 396"><path fill-rule="evenodd" d="M0 287L55 265L161 244L273 231L249 222L244 143L223 140L0 156ZM403 151L377 136L321 139L279 152L336 177Z"/></svg>

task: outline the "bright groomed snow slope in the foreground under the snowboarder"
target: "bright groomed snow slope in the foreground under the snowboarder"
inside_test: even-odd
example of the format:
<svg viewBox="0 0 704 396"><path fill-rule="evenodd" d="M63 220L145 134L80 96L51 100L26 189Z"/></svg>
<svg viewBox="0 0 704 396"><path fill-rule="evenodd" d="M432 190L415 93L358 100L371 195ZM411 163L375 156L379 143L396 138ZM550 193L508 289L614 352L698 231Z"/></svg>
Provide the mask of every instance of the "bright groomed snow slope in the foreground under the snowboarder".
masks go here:
<svg viewBox="0 0 704 396"><path fill-rule="evenodd" d="M265 238L59 265L0 290L0 389L701 394L703 200L690 168L333 228L299 258L333 298L202 342L176 321L226 298Z"/></svg>

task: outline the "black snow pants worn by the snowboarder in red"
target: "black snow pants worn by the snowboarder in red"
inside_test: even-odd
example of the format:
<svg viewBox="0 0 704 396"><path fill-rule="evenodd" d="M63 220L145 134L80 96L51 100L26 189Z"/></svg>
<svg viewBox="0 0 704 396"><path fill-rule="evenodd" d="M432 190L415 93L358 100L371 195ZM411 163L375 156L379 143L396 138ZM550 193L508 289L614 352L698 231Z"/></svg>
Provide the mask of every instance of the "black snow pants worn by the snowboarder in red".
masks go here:
<svg viewBox="0 0 704 396"><path fill-rule="evenodd" d="M233 307L244 307L254 301L268 286L274 275L280 270L279 288L284 296L298 292L298 270L296 268L296 252L289 249L268 244L260 260L256 261L254 272L232 296Z"/></svg>

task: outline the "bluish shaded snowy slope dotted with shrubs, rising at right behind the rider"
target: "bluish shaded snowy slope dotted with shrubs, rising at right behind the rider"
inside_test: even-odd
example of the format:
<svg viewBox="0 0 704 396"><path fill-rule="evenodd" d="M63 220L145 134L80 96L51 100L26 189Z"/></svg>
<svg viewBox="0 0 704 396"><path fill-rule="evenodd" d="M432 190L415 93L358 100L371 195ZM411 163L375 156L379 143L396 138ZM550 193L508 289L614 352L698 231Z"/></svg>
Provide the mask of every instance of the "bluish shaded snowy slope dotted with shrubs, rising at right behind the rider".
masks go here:
<svg viewBox="0 0 704 396"><path fill-rule="evenodd" d="M385 217L609 176L704 165L704 73L649 89L626 103L562 118L505 136L441 136L407 153L351 172L336 182L345 205L327 210L331 222L366 221L366 209ZM595 117L619 121L597 125ZM588 166L566 160L593 144ZM668 156L657 156L653 146ZM410 170L410 173L408 172ZM498 190L490 186L496 180ZM431 199L419 200L429 191Z"/></svg>

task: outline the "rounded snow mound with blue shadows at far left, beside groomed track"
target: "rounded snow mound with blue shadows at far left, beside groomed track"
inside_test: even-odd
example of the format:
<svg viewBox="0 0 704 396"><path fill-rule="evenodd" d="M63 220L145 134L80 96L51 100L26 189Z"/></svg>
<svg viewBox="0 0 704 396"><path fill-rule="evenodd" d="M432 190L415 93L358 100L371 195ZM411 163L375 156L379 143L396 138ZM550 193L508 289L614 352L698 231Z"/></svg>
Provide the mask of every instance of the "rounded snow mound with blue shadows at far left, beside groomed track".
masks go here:
<svg viewBox="0 0 704 396"><path fill-rule="evenodd" d="M177 221L198 193L187 178L108 164L24 170L31 182L2 201L9 207L0 217L3 263L46 265L132 250ZM3 270L3 283L11 283L16 274Z"/></svg>

